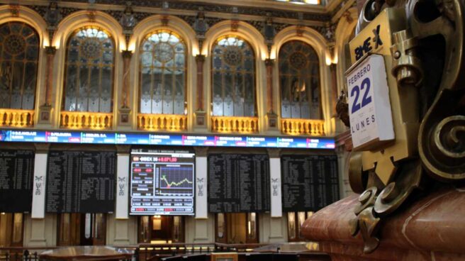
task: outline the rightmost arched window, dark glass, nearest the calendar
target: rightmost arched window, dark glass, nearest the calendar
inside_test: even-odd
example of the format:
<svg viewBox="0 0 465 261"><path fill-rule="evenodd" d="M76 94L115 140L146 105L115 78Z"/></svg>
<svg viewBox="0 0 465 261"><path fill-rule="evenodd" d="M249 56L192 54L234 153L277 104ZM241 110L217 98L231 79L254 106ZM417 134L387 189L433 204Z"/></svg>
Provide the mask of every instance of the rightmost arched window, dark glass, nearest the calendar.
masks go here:
<svg viewBox="0 0 465 261"><path fill-rule="evenodd" d="M320 119L320 70L318 55L298 40L279 50L281 117Z"/></svg>

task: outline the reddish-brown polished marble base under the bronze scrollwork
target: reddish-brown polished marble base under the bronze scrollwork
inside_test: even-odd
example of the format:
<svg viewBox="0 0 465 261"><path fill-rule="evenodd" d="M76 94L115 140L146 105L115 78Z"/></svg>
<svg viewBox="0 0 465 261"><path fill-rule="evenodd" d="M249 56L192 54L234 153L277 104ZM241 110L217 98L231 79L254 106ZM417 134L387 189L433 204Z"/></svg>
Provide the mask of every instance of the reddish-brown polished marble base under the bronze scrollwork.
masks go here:
<svg viewBox="0 0 465 261"><path fill-rule="evenodd" d="M364 254L360 234L350 235L359 195L321 209L303 223L303 235L332 260L465 260L465 187L442 187L403 206L381 224L381 243Z"/></svg>

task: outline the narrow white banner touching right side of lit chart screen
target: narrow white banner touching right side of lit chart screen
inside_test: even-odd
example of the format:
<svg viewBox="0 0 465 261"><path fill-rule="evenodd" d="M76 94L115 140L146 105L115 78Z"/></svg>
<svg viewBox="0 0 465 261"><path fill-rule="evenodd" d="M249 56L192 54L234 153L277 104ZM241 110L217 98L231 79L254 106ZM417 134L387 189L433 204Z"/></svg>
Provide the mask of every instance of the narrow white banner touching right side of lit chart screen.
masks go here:
<svg viewBox="0 0 465 261"><path fill-rule="evenodd" d="M208 218L207 149L196 148L196 218Z"/></svg>

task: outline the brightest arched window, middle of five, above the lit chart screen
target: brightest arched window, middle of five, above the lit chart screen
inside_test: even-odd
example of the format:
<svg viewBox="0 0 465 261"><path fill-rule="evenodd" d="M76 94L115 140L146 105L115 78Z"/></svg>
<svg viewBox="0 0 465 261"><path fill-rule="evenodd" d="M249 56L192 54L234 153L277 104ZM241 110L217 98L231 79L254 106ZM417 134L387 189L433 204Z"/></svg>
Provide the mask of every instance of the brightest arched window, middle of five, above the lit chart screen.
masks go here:
<svg viewBox="0 0 465 261"><path fill-rule="evenodd" d="M186 44L157 30L140 46L140 113L186 113Z"/></svg>

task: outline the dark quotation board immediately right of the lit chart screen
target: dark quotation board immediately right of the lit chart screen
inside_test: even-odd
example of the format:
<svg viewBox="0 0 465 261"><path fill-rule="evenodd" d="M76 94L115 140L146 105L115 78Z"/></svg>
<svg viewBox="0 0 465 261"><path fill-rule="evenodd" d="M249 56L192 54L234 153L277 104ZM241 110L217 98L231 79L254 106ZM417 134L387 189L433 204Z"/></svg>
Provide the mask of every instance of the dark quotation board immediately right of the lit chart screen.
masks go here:
<svg viewBox="0 0 465 261"><path fill-rule="evenodd" d="M268 155L208 155L208 211L270 210Z"/></svg>

